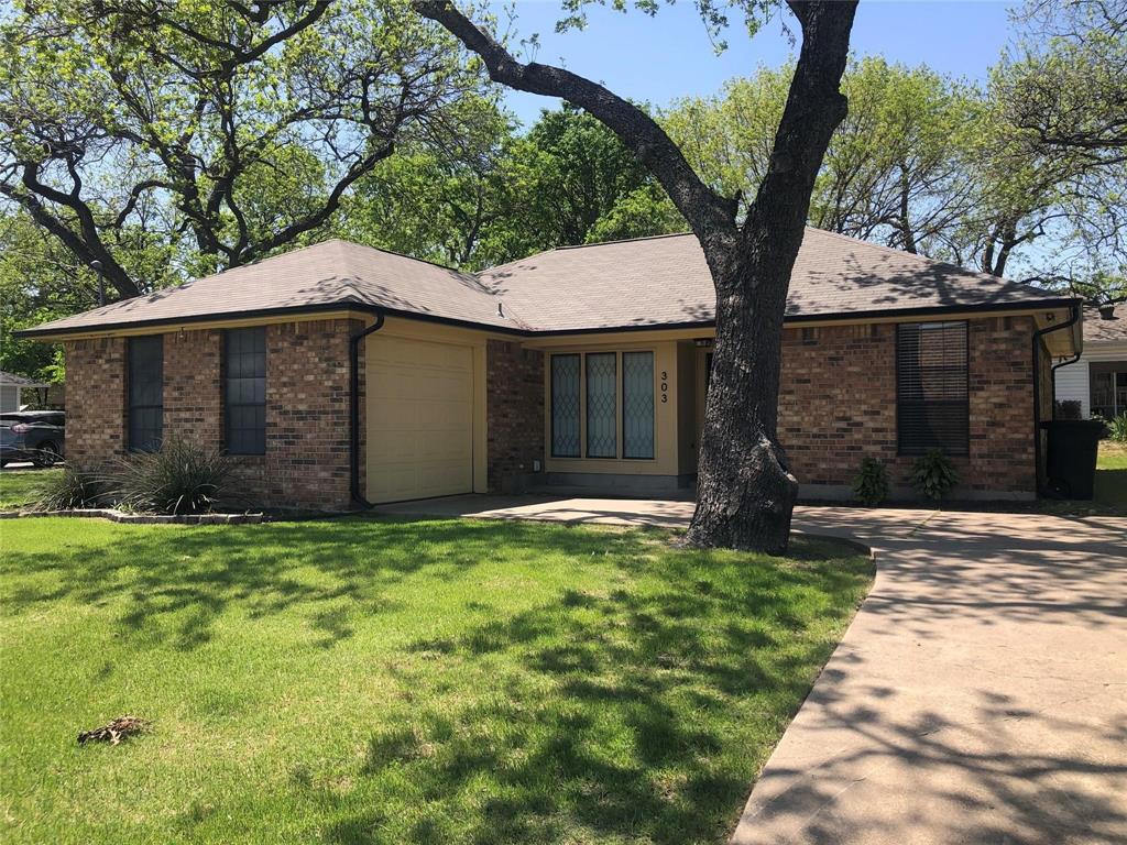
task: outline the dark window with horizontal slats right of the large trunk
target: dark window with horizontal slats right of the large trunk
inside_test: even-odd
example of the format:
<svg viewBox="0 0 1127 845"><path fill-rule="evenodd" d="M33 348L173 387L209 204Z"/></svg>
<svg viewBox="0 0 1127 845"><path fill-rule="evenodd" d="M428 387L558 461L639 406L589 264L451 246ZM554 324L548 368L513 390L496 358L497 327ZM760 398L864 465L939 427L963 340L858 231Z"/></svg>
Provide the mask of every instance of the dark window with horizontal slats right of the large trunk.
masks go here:
<svg viewBox="0 0 1127 845"><path fill-rule="evenodd" d="M970 451L966 322L896 327L896 428L899 452Z"/></svg>

